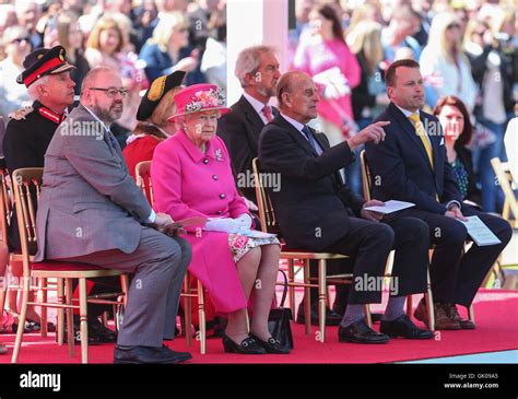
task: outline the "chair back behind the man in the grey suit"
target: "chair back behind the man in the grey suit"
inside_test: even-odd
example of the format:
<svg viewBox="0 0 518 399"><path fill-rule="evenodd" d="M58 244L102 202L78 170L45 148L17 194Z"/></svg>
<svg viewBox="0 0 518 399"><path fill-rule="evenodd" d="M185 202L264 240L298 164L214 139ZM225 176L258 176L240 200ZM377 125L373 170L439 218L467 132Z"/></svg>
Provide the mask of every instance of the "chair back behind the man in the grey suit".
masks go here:
<svg viewBox="0 0 518 399"><path fill-rule="evenodd" d="M13 172L12 189L22 244L23 272L30 277L30 247L36 242L36 209L42 190L43 167L24 167Z"/></svg>

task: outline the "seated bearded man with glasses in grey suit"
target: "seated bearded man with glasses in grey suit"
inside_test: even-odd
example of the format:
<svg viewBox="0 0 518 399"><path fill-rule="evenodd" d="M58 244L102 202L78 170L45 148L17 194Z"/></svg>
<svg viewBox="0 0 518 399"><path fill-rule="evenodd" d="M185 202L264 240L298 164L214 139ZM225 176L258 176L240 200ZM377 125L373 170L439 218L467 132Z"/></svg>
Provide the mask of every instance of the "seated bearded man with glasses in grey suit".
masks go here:
<svg viewBox="0 0 518 399"><path fill-rule="evenodd" d="M126 94L108 68L85 77L79 107L60 125L45 155L35 260L134 273L115 363L177 363L191 355L169 350L163 340L174 338L191 250L184 239L163 234L172 232L170 216L152 210L109 130Z"/></svg>

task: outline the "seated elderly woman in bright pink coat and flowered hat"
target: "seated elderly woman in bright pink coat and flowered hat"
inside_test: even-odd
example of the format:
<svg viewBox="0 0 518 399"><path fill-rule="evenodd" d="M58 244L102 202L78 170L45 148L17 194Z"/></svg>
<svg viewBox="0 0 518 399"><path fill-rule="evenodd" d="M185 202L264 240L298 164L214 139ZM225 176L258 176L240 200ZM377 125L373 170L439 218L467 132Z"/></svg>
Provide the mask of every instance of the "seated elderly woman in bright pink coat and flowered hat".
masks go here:
<svg viewBox="0 0 518 399"><path fill-rule="evenodd" d="M252 219L237 193L228 151L215 136L217 118L228 112L224 102L214 84L196 84L175 95L177 113L169 119L180 128L154 153L154 208L174 220L209 219L203 227L186 227L192 246L189 270L209 291L216 312L228 315L225 351L289 353L268 330L280 244L273 236L249 236ZM246 308L252 290L248 335Z"/></svg>

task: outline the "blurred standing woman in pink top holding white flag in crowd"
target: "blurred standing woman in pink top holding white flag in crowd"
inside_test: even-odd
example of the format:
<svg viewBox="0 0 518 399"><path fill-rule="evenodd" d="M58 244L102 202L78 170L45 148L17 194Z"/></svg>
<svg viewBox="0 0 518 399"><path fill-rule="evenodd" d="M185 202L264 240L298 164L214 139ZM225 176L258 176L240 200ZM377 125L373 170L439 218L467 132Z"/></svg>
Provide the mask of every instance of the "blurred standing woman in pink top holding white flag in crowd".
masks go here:
<svg viewBox="0 0 518 399"><path fill-rule="evenodd" d="M355 130L351 89L360 84L361 69L343 37L337 12L320 5L309 14L311 34L303 37L293 68L311 75L322 87L318 103L319 127L331 145L345 140Z"/></svg>

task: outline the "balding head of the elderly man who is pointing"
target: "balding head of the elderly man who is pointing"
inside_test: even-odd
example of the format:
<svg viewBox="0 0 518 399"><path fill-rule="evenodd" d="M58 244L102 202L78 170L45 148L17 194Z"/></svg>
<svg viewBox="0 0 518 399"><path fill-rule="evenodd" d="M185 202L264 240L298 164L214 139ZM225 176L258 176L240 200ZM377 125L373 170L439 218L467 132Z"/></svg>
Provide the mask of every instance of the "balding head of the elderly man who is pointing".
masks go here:
<svg viewBox="0 0 518 399"><path fill-rule="evenodd" d="M301 124L317 117L320 97L311 77L305 72L284 73L276 85L276 98L281 112Z"/></svg>

